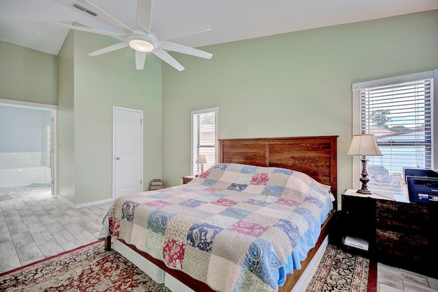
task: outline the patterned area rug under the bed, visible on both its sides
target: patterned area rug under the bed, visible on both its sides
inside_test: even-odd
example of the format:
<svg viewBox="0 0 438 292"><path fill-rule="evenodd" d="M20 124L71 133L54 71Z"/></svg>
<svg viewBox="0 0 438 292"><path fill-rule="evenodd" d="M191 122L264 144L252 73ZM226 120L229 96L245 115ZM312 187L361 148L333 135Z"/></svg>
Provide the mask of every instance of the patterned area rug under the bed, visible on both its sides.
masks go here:
<svg viewBox="0 0 438 292"><path fill-rule="evenodd" d="M368 267L367 259L329 245L307 291L367 291ZM114 250L103 250L103 242L0 274L0 291L170 292Z"/></svg>

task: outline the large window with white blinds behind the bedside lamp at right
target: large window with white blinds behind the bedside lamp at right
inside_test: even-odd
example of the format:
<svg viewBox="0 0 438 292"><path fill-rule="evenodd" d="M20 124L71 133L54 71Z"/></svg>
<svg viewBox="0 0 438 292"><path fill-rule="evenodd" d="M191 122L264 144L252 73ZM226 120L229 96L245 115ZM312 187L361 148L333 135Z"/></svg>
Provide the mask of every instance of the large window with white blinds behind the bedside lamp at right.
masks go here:
<svg viewBox="0 0 438 292"><path fill-rule="evenodd" d="M438 70L352 85L353 135L374 134L383 156L367 157L368 188L376 194L407 196L403 168L434 169L434 88ZM359 188L361 162L353 160Z"/></svg>

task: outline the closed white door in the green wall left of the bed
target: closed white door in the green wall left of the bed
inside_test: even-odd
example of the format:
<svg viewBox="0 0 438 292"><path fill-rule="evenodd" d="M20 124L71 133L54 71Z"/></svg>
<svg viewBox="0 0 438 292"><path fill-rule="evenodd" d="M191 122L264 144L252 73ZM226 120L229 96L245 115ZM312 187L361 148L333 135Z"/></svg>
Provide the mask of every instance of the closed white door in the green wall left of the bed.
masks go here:
<svg viewBox="0 0 438 292"><path fill-rule="evenodd" d="M143 191L143 111L113 107L113 198Z"/></svg>

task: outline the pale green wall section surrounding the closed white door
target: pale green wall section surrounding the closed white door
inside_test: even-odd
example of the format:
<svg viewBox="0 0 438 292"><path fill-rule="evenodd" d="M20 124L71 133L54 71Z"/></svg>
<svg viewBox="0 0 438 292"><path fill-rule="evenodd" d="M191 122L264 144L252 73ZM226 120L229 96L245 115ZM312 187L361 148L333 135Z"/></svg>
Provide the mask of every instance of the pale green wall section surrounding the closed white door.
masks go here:
<svg viewBox="0 0 438 292"><path fill-rule="evenodd" d="M112 38L70 31L68 49L62 49L68 57L60 54L60 68L66 70L60 69L60 102L65 103L59 105L58 131L67 134L65 141L60 135L59 194L74 204L112 198L113 106L144 111L144 189L162 175L161 62L150 55L147 69L138 71L130 49L87 55L111 44ZM64 165L72 157L71 165Z"/></svg>

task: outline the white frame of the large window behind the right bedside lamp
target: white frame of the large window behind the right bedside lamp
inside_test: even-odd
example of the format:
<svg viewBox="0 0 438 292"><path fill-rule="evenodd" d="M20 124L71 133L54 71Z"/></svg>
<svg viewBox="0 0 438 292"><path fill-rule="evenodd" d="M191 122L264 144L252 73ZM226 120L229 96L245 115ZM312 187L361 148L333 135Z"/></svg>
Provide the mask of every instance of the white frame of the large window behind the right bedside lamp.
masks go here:
<svg viewBox="0 0 438 292"><path fill-rule="evenodd" d="M421 79L433 79L431 83L431 93L433 96L430 98L430 114L435 120L435 124L432 124L431 140L432 140L432 167L437 168L438 166L438 149L437 149L437 137L438 137L438 109L437 96L438 96L438 69L426 72L414 73L409 75L402 75L398 77L389 77L385 79L378 79L372 81L365 81L361 83L352 84L352 135L361 134L361 90L364 88L372 88L381 85L396 84L408 81L416 81ZM360 174L361 174L362 163L360 157L352 157L352 188L360 189Z"/></svg>

